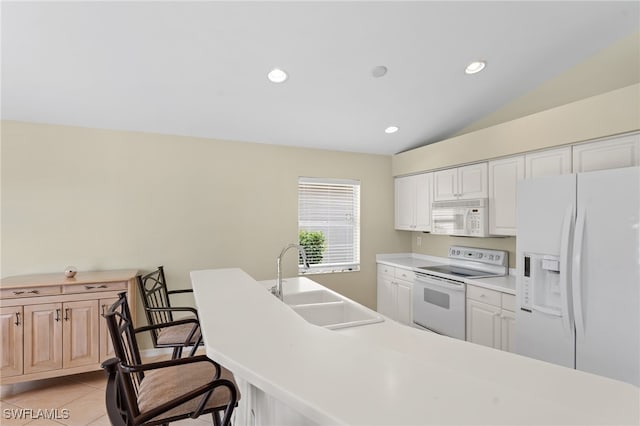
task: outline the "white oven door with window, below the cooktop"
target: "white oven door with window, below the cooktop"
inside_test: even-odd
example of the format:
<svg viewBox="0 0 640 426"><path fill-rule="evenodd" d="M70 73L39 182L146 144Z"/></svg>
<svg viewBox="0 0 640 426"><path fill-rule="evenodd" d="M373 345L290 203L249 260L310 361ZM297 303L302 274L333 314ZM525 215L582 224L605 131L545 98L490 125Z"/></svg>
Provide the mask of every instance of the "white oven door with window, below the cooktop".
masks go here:
<svg viewBox="0 0 640 426"><path fill-rule="evenodd" d="M413 322L464 340L465 291L462 282L417 273L413 286Z"/></svg>

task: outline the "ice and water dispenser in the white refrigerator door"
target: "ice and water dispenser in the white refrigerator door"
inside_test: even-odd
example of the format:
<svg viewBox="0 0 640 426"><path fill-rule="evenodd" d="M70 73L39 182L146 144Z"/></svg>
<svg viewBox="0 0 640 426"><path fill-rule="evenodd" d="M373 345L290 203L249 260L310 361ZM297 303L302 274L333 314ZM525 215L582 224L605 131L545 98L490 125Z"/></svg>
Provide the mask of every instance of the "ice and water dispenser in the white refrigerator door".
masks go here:
<svg viewBox="0 0 640 426"><path fill-rule="evenodd" d="M562 315L560 256L524 253L521 308Z"/></svg>

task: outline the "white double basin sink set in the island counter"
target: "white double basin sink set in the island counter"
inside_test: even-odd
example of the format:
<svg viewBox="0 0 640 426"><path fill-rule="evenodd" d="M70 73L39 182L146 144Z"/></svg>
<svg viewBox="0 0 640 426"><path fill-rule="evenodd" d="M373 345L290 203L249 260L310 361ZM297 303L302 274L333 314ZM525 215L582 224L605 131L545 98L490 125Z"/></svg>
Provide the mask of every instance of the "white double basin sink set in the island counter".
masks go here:
<svg viewBox="0 0 640 426"><path fill-rule="evenodd" d="M330 330L384 321L378 313L325 289L285 292L283 301L307 322Z"/></svg>

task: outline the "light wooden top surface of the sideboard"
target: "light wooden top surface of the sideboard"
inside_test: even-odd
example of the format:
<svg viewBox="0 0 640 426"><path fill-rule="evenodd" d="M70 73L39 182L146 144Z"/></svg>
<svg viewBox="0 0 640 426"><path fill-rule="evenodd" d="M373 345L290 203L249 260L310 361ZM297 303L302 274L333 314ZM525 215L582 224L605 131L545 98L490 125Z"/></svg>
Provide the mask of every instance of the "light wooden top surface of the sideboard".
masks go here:
<svg viewBox="0 0 640 426"><path fill-rule="evenodd" d="M64 272L16 275L2 278L0 288L42 287L48 285L89 284L96 282L128 281L136 276L135 269L110 271L78 271L75 277L67 278Z"/></svg>

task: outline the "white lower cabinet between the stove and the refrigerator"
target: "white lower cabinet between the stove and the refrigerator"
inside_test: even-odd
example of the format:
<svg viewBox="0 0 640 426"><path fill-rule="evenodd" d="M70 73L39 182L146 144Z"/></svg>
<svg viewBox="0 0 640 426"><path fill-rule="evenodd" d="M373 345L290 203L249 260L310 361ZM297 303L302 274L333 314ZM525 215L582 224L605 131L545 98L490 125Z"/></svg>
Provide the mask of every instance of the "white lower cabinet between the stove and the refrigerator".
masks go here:
<svg viewBox="0 0 640 426"><path fill-rule="evenodd" d="M467 341L515 352L515 296L467 284Z"/></svg>

